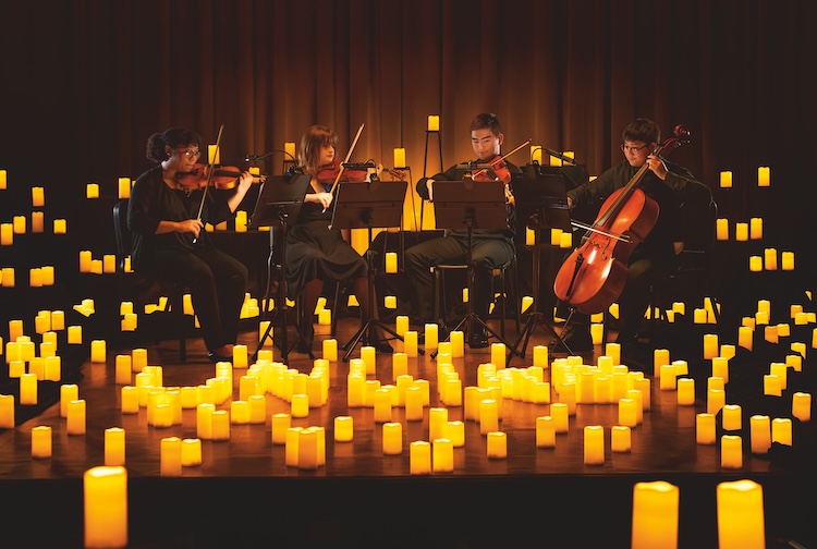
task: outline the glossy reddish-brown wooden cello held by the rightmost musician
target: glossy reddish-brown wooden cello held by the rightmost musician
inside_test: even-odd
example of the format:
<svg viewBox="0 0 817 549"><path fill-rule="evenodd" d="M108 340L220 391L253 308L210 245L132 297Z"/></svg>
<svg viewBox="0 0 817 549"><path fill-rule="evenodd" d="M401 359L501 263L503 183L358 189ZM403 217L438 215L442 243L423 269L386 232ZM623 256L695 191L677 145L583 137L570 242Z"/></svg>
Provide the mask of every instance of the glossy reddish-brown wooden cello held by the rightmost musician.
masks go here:
<svg viewBox="0 0 817 549"><path fill-rule="evenodd" d="M688 143L688 131L676 125L674 137L658 146L653 156ZM645 162L626 185L607 197L592 225L556 276L553 291L571 308L593 315L618 300L627 279L633 249L647 237L658 220L658 204L638 187L649 170Z"/></svg>

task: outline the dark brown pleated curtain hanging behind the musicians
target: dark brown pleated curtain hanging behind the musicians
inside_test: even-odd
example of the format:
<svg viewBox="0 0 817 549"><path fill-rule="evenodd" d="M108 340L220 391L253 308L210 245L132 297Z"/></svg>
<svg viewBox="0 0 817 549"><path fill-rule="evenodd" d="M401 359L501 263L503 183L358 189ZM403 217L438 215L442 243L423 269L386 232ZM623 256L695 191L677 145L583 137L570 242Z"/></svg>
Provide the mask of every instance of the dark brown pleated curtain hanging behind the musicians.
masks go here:
<svg viewBox="0 0 817 549"><path fill-rule="evenodd" d="M692 143L672 159L735 221L765 218L779 247L808 251L815 139L813 0L26 0L0 4L0 169L7 205L45 186L49 205L150 163L172 125L244 164L336 129L353 160L423 174L426 124L442 159L471 158L468 123L496 112L505 150L525 139L574 150L590 174L619 161L635 117ZM511 158L526 163L527 154ZM282 157L263 167L277 173ZM758 166L772 186L758 190ZM719 172L734 188L718 188ZM22 191L20 191L22 188ZM64 198L64 200L62 200ZM10 222L3 208L3 222ZM791 241L794 239L794 241ZM804 257L801 255L798 257Z"/></svg>

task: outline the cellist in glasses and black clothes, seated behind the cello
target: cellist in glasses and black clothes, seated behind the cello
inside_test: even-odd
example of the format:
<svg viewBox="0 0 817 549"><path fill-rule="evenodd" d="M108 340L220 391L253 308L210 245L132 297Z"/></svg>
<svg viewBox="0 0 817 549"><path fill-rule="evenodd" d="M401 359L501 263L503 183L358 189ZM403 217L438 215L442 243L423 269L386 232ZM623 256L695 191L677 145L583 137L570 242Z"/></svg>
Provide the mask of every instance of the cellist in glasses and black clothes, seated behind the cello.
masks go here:
<svg viewBox="0 0 817 549"><path fill-rule="evenodd" d="M624 160L597 179L568 192L569 207L589 204L624 187L645 163L648 164L638 188L658 204L659 215L651 231L632 251L624 289L617 300L620 326L617 341L622 344L622 352L632 350L637 342L644 313L649 305L649 288L671 271L675 256L681 252L676 245L682 240L680 208L683 193L687 185L704 185L686 168L655 155L659 143L661 130L655 122L645 118L634 120L622 132ZM575 312L561 337L573 352L594 349L586 314ZM558 342L551 343L551 347L558 346Z"/></svg>

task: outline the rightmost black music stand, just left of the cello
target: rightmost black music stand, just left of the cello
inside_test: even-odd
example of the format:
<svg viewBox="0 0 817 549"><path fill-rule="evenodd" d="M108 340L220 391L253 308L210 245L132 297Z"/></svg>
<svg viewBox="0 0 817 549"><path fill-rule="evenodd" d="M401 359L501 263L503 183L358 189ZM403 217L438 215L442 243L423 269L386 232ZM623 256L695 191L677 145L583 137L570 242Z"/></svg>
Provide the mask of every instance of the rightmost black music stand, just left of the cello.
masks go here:
<svg viewBox="0 0 817 549"><path fill-rule="evenodd" d="M535 166L526 166L522 174L514 174L513 195L516 198L516 218L520 227L524 225L534 230L533 245L533 297L534 309L528 314L525 328L513 344L513 351L521 357L525 356L527 343L537 326L542 326L572 354L568 344L561 335L556 332L552 324L539 310L539 279L541 278L541 231L548 233L550 229L562 229L571 231L570 209L568 208L568 195L565 192L564 175L559 171L542 169ZM522 350L519 350L520 343ZM509 355L510 357L512 354Z"/></svg>

